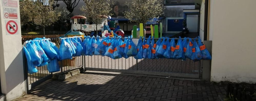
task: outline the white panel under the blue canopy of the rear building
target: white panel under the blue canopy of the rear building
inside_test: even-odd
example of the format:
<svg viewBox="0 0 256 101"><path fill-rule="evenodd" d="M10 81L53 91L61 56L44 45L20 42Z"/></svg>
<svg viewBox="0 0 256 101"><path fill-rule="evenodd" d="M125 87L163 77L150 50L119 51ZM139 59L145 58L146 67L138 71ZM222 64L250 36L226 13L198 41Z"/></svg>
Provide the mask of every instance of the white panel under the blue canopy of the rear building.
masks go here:
<svg viewBox="0 0 256 101"><path fill-rule="evenodd" d="M198 15L187 15L187 28L189 32L198 32Z"/></svg>

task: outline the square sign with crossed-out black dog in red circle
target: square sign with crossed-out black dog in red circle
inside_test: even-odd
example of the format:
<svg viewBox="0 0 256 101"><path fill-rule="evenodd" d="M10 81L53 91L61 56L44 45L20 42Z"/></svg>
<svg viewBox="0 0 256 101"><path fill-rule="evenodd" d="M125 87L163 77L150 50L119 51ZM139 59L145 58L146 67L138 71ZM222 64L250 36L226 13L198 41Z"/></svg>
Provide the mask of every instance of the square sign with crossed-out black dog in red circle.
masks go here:
<svg viewBox="0 0 256 101"><path fill-rule="evenodd" d="M18 24L15 20L5 20L6 35L18 34Z"/></svg>

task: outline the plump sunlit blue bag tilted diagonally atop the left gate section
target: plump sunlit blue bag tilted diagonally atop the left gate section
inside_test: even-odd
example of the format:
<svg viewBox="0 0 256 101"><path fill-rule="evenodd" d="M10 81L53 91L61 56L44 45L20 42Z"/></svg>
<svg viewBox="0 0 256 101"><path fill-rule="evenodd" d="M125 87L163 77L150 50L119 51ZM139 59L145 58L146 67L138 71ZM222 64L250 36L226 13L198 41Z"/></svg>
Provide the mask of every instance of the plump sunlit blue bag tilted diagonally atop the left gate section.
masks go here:
<svg viewBox="0 0 256 101"><path fill-rule="evenodd" d="M40 46L50 59L53 59L57 55L57 52L46 41L40 40Z"/></svg>

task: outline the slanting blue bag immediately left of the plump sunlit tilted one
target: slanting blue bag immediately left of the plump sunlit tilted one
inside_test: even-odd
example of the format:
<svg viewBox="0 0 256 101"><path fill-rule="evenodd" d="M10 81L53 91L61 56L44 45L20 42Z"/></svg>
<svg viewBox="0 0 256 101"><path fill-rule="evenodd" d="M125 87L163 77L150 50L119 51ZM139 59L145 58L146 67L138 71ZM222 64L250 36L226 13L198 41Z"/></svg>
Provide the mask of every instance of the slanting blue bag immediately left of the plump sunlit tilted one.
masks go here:
<svg viewBox="0 0 256 101"><path fill-rule="evenodd" d="M39 42L38 41L34 41L34 42L32 41L31 43L32 43L32 45L36 46L36 50L38 51L39 56L41 57L41 60L42 60L42 63L40 65L37 65L37 66L47 65L47 63L49 62L49 58L45 54L45 52L42 49L42 47L39 45Z"/></svg>

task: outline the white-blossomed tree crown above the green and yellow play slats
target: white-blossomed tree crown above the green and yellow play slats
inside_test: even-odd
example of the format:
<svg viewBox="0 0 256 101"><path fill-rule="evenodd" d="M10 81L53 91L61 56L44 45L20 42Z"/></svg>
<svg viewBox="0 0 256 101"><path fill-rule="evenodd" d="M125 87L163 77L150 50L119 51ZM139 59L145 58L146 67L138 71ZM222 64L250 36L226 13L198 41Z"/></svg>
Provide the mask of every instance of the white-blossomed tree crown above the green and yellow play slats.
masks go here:
<svg viewBox="0 0 256 101"><path fill-rule="evenodd" d="M160 0L132 0L132 2L125 4L129 10L124 12L124 17L130 22L143 23L144 25L153 18L158 19L164 10Z"/></svg>

